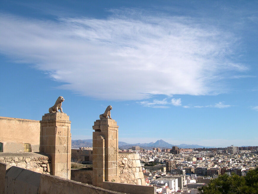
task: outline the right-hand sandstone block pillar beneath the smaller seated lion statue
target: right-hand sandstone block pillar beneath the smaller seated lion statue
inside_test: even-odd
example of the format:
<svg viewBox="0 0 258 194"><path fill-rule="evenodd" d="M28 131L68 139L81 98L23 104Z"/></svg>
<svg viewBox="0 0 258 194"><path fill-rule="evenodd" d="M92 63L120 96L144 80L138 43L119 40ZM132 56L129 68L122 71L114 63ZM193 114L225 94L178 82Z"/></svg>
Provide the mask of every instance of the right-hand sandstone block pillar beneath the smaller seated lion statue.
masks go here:
<svg viewBox="0 0 258 194"><path fill-rule="evenodd" d="M118 126L114 119L94 122L93 185L103 187L103 181L117 182Z"/></svg>

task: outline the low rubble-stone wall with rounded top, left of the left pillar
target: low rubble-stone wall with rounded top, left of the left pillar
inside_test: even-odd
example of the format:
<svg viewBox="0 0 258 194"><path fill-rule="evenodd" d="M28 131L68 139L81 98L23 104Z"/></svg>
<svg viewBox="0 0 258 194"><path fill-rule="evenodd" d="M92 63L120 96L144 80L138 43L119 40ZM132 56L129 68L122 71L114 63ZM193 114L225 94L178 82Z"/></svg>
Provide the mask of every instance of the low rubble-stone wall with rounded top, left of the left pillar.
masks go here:
<svg viewBox="0 0 258 194"><path fill-rule="evenodd" d="M49 157L34 152L0 153L0 162L43 174L50 174L52 171Z"/></svg>

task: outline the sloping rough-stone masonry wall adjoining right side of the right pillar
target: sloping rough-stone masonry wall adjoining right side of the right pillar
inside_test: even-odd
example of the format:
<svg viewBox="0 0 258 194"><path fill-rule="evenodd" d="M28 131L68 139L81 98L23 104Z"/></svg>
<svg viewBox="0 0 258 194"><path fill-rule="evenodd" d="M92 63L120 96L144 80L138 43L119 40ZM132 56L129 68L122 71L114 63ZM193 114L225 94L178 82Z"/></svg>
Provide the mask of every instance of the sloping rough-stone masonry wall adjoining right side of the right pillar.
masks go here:
<svg viewBox="0 0 258 194"><path fill-rule="evenodd" d="M118 167L121 183L146 185L138 154L119 153Z"/></svg>

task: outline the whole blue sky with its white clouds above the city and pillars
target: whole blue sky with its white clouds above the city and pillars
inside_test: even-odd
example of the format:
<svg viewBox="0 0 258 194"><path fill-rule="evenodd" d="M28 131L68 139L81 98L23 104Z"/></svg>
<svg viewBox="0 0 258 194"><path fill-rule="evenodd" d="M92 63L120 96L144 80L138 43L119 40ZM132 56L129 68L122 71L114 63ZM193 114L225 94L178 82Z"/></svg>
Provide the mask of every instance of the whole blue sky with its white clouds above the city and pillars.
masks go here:
<svg viewBox="0 0 258 194"><path fill-rule="evenodd" d="M0 116L58 96L72 139L258 145L257 1L1 1Z"/></svg>

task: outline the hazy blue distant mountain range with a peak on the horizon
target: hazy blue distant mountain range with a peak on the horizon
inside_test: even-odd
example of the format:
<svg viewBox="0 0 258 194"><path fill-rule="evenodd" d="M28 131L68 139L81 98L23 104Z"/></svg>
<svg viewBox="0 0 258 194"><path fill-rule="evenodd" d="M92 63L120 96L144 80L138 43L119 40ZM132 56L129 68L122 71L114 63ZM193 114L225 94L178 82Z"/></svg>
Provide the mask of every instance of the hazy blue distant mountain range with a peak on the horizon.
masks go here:
<svg viewBox="0 0 258 194"><path fill-rule="evenodd" d="M168 142L161 140L151 143L126 143L123 141L118 142L118 147L120 149L129 149L132 146L140 146L143 149L152 149L156 148L172 148L172 146L178 146L179 148L214 148L214 147L206 147L206 146L199 146L195 145L188 145L188 144L180 144L180 145L173 145ZM79 148L79 147L92 147L92 139L85 139L85 140L72 140L72 148Z"/></svg>

